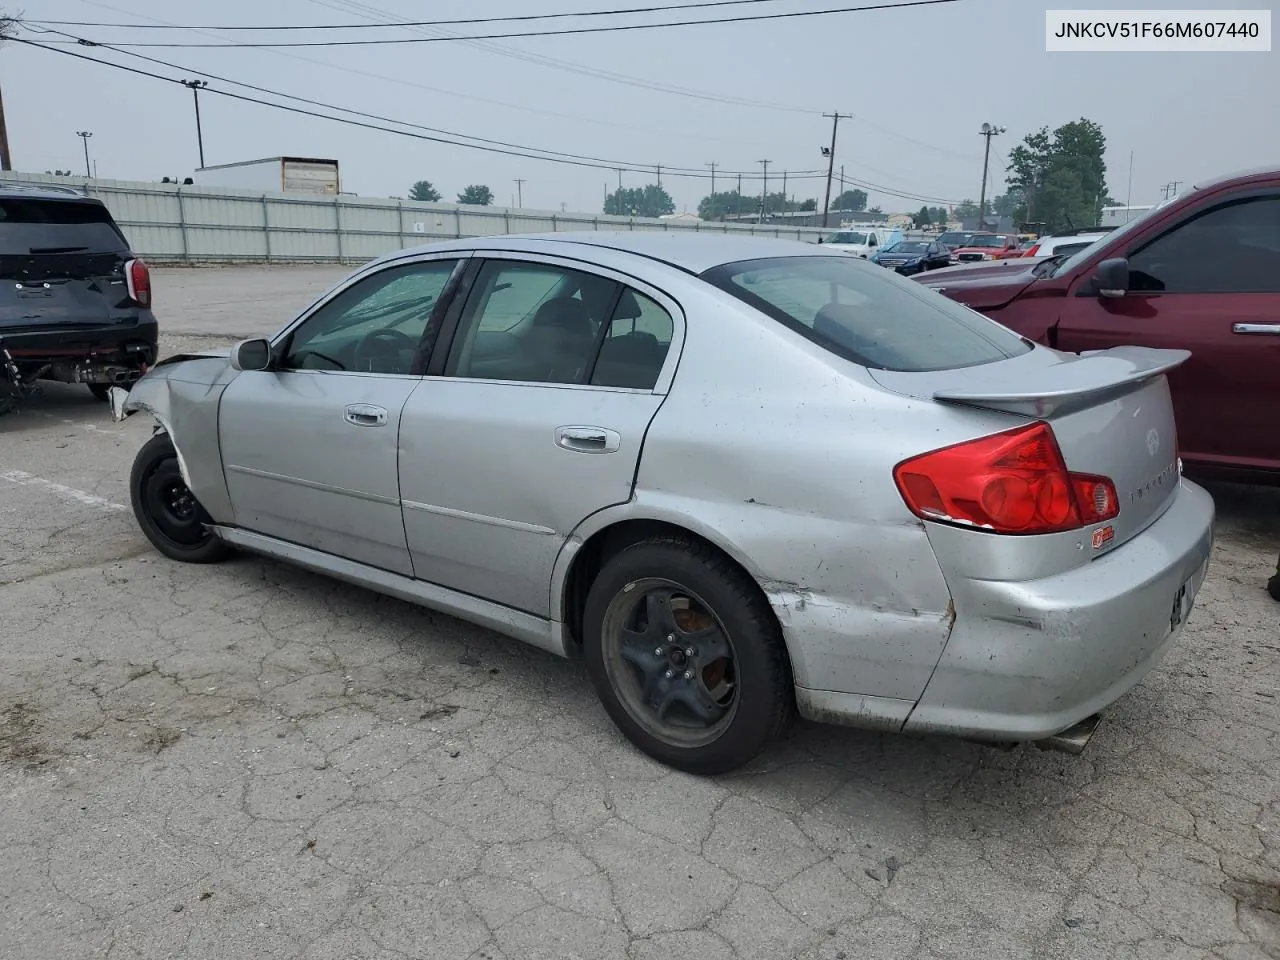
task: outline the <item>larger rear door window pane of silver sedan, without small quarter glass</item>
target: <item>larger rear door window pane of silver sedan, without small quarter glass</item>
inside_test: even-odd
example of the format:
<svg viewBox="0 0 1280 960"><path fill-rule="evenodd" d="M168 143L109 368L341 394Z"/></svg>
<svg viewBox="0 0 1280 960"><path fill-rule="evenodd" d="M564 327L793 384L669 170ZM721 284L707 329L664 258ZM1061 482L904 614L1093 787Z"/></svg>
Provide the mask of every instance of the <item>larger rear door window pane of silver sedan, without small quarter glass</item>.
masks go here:
<svg viewBox="0 0 1280 960"><path fill-rule="evenodd" d="M620 284L548 264L490 260L453 338L445 375L586 383Z"/></svg>

